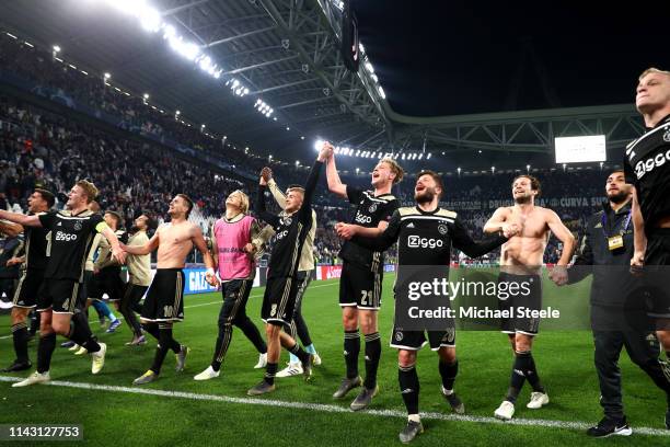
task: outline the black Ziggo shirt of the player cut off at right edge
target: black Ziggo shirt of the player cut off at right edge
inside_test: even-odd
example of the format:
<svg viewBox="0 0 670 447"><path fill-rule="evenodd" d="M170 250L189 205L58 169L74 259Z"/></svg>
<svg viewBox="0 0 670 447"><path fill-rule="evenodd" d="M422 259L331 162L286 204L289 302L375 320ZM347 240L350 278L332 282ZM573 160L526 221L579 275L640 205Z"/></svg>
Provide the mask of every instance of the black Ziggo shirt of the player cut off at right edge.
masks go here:
<svg viewBox="0 0 670 447"><path fill-rule="evenodd" d="M670 115L626 147L626 182L635 185L645 231L670 216Z"/></svg>

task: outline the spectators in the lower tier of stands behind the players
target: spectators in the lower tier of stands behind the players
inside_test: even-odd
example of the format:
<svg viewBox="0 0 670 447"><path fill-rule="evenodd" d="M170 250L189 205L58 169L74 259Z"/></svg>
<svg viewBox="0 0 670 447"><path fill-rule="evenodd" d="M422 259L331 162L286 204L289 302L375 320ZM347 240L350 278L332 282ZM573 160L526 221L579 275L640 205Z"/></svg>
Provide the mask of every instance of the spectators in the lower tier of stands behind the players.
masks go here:
<svg viewBox="0 0 670 447"><path fill-rule="evenodd" d="M59 203L79 179L89 179L100 186L99 202L103 209L122 214L126 226L140 211L154 214L159 221L165 218L170 198L187 192L196 202L193 218L207 230L221 215L227 195L238 188L256 190L255 182L232 179L208 167L182 160L168 149L130 139L112 137L103 130L78 124L62 116L22 104L11 98L0 99L0 206L25 209L26 199L35 186L45 186L59 193ZM561 171L539 173L544 194L561 196L561 190L574 188L575 195L598 197L602 185L594 184L598 176ZM345 177L346 182L365 187L369 179ZM452 202L480 203L506 200L511 195L509 175L480 175L450 179L446 191L447 204ZM412 202L414 182L409 179L395 187L404 204ZM576 185L576 186L575 186ZM554 190L552 190L554 188ZM321 195L326 195L324 191ZM490 194L490 195L489 195ZM571 194L571 192L567 192ZM331 200L316 200L319 229L315 255L319 263L337 263L340 240L334 231L337 221L348 220L350 209L344 200L339 207ZM498 202L496 202L498 204ZM590 204L590 202L589 202ZM579 232L586 217L594 210L592 205L581 207L553 207L568 228ZM475 239L484 237L482 228L493 209L455 209ZM550 240L545 262L555 262L559 244ZM394 252L388 256L394 259ZM495 261L496 255L490 260ZM455 254L454 254L455 260Z"/></svg>

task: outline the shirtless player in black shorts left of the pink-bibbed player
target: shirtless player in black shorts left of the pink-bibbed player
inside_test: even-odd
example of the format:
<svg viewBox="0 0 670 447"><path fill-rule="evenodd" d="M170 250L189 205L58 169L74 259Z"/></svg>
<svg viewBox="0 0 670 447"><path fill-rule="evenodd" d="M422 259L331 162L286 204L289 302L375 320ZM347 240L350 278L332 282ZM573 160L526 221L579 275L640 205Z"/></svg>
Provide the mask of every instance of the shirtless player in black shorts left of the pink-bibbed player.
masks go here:
<svg viewBox="0 0 670 447"><path fill-rule="evenodd" d="M217 286L218 280L213 272L213 260L203 231L188 221L193 209L193 200L185 194L177 194L170 202L171 221L160 227L155 234L143 245L123 245L128 254L148 254L158 249L155 276L147 293L140 321L145 331L153 335L159 344L155 348L153 365L143 375L132 381L132 385L145 385L158 379L161 366L172 349L176 354L176 371L183 371L186 366L188 348L172 337L172 324L184 320L184 263L186 256L195 245L205 260L207 267L206 280Z"/></svg>

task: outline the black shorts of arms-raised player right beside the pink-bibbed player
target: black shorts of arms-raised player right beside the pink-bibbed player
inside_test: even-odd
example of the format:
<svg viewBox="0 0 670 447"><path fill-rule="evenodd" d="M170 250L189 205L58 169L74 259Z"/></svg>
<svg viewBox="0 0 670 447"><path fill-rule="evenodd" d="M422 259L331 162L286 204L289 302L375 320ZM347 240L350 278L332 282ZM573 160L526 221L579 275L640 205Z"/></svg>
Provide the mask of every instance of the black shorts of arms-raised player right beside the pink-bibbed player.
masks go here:
<svg viewBox="0 0 670 447"><path fill-rule="evenodd" d="M268 278L263 295L261 318L266 323L290 326L296 310L298 279L294 277Z"/></svg>

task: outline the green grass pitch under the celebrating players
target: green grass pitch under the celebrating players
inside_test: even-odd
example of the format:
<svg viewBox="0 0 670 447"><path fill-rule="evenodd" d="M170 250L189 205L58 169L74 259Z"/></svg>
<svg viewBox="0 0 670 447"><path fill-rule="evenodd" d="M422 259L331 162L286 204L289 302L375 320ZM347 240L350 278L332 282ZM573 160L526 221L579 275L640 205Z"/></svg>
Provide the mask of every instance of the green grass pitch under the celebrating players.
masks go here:
<svg viewBox="0 0 670 447"><path fill-rule="evenodd" d="M384 278L384 303L380 312L383 353L379 371L380 394L374 410L404 412L397 386L396 352L388 346L393 317L391 297L393 276ZM588 283L566 289L575 302L587 302ZM553 294L551 287L545 294ZM261 324L262 288L252 291L247 312ZM562 295L563 297L563 295ZM253 369L257 355L251 343L235 329L230 351L218 379L196 382L193 376L207 367L217 334L219 294L185 297L186 320L177 324L175 337L190 347L186 371L174 371L174 357L169 354L160 380L148 389L182 391L197 394L246 398L246 390L261 380L262 370ZM196 306L200 305L200 306ZM195 307L194 307L195 306ZM337 280L313 282L303 301L303 312L312 339L323 359L311 382L301 377L277 379L277 391L262 400L338 405L346 409L354 392L344 401L334 401L333 391L344 373L340 310L337 306ZM91 312L93 314L93 312ZM155 341L143 347L124 343L130 332L124 324L115 334L105 334L97 323L92 328L108 344L107 359L99 376L90 374L88 356L73 356L57 347L51 364L51 380L131 387L153 357ZM0 317L0 365L13 359L10 319ZM59 343L62 340L59 339ZM490 417L508 386L511 354L505 335L495 331L459 331L457 335L460 373L455 390L463 399L466 414ZM36 358L36 342L31 343L31 357ZM592 362L592 341L588 330L544 331L538 336L533 353L539 374L551 397L542 410L528 410L529 387L524 387L515 417L578 423L594 423L601 417L599 391ZM282 364L288 355L282 353ZM622 354L624 404L633 426L632 438L612 438L610 445L670 445L670 437L635 434L636 427L662 429L665 397L651 381ZM362 362L362 343L360 369ZM437 356L427 347L419 354L421 381L420 410L448 414L448 405L439 393ZM4 377L24 377L26 374ZM328 412L315 409L287 409L252 403L231 403L192 398L142 396L107 390L78 389L59 386L11 388L0 382L0 424L59 423L83 425L83 443L95 446L370 446L400 445L397 433L404 420L380 414ZM511 425L488 421L425 420L426 432L416 446L522 446L522 445L602 445L590 439L584 429ZM45 445L45 443L35 443ZM46 443L48 444L48 443ZM66 443L69 444L69 443ZM30 443L25 443L30 445ZM56 443L63 445L63 443Z"/></svg>

